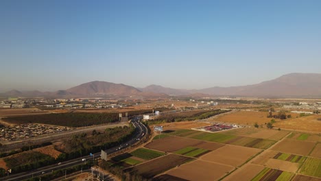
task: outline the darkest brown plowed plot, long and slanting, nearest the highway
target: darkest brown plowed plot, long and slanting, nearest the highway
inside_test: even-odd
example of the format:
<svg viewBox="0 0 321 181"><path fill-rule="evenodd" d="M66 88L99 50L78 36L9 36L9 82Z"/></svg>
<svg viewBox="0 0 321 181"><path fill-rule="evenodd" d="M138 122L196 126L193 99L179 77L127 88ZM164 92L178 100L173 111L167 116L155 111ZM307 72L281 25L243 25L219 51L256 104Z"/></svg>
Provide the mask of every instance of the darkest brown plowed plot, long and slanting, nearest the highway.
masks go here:
<svg viewBox="0 0 321 181"><path fill-rule="evenodd" d="M163 173L164 171L182 165L183 163L189 162L191 160L193 160L193 158L176 154L168 154L167 156L156 158L154 160L151 160L150 162L145 162L141 165L125 169L124 171L139 174L144 178L153 178L154 176Z"/></svg>

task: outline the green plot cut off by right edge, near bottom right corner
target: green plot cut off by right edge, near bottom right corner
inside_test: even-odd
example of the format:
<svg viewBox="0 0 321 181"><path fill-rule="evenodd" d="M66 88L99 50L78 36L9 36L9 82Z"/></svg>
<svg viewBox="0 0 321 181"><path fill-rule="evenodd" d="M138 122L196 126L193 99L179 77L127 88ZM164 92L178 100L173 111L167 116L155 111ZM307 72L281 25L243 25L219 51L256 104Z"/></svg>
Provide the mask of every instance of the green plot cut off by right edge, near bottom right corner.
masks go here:
<svg viewBox="0 0 321 181"><path fill-rule="evenodd" d="M321 159L307 158L299 172L303 175L321 178Z"/></svg>

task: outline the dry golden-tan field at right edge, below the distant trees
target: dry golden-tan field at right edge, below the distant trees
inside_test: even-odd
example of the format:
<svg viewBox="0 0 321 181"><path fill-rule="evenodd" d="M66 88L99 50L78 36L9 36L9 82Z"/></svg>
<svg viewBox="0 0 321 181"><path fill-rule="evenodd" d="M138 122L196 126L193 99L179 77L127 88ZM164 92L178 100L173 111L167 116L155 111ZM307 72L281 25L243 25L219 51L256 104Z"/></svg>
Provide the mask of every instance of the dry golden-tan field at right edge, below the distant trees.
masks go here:
<svg viewBox="0 0 321 181"><path fill-rule="evenodd" d="M321 118L320 114L313 114L306 117L298 117L276 122L274 123L274 126L281 129L320 133L321 121L318 121L318 118Z"/></svg>

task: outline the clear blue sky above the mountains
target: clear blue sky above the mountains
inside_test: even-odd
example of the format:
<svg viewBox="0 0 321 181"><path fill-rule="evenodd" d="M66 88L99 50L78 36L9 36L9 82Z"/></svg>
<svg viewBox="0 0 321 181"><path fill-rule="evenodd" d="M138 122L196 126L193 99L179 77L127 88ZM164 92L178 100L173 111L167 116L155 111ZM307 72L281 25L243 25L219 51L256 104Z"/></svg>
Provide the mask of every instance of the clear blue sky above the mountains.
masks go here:
<svg viewBox="0 0 321 181"><path fill-rule="evenodd" d="M321 73L321 1L0 1L0 92Z"/></svg>

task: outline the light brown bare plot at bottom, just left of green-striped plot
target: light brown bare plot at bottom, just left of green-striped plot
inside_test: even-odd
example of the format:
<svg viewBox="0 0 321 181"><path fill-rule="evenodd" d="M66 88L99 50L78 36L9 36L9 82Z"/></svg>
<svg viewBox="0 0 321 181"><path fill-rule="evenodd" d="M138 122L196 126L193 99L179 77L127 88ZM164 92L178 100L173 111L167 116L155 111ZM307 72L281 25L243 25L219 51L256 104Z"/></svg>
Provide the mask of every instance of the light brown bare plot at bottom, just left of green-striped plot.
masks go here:
<svg viewBox="0 0 321 181"><path fill-rule="evenodd" d="M264 169L263 166L260 165L244 165L244 167L241 167L240 169L237 169L237 171L233 172L228 176L225 180L252 180L257 174L259 174Z"/></svg>

